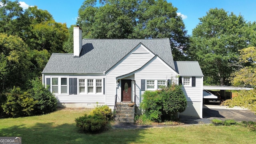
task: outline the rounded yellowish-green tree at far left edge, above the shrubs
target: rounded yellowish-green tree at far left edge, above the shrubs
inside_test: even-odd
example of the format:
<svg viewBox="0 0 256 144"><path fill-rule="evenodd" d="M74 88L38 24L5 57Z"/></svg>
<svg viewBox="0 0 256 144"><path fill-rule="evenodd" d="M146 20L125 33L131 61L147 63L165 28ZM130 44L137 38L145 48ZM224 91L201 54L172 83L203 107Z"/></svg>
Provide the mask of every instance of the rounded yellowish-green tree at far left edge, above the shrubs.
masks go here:
<svg viewBox="0 0 256 144"><path fill-rule="evenodd" d="M13 86L23 87L31 78L32 56L29 48L18 36L0 33L0 55L3 65L0 67L0 91Z"/></svg>

